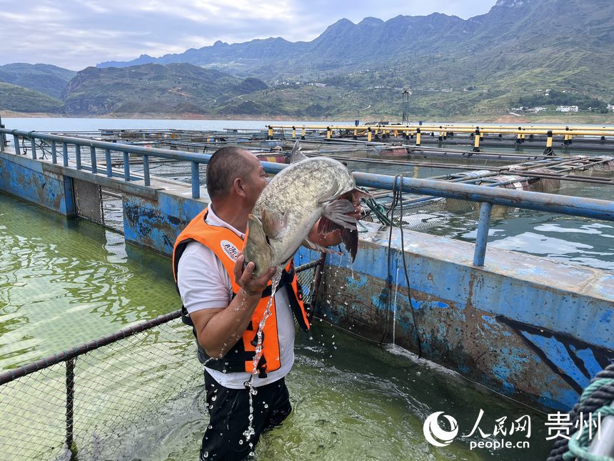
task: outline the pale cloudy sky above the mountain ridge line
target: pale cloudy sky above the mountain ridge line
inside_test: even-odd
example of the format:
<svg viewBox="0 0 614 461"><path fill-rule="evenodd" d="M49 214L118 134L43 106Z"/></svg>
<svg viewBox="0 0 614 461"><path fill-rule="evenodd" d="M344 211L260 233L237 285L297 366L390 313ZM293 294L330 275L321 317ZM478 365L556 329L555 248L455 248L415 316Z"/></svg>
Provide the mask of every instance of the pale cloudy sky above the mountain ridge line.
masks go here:
<svg viewBox="0 0 614 461"><path fill-rule="evenodd" d="M495 0L0 0L0 64L80 70L161 56L221 40L311 41L341 18L358 23L433 12L468 19Z"/></svg>

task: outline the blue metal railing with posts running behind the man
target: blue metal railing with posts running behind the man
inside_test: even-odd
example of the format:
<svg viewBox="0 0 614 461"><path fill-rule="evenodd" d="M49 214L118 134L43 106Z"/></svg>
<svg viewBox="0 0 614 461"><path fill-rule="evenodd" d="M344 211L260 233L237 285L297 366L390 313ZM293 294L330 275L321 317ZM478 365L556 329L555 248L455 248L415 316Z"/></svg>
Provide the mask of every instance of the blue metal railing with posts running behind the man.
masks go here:
<svg viewBox="0 0 614 461"><path fill-rule="evenodd" d="M149 158L173 159L176 161L191 162L191 186L192 197L200 198L200 164L208 163L211 159L209 154L197 154L194 152L182 152L168 149L154 149L150 147L132 146L130 144L116 144L114 142L96 141L94 139L83 139L74 137L58 136L55 134L39 132L23 132L19 130L2 129L0 134L11 134L14 139L15 154L21 154L19 149L19 137L31 139L32 158L36 159L35 139L49 141L51 144L51 162L56 163L56 143L62 143L63 165L69 166L68 145L75 146L76 169L84 169L81 164L81 147L89 147L91 150L91 172L96 174L96 149L104 149L106 159L106 176L114 177L111 169L111 151L122 152L124 154L124 180L131 181L134 177L130 175L129 154L141 155L143 157L144 177L146 186L150 184L149 177ZM278 173L286 168L286 164L273 162L262 162L263 167L268 173ZM520 174L520 173L518 173ZM605 219L614 221L614 202L599 199L587 199L584 197L570 197L567 195L545 194L543 192L527 192L514 189L501 189L493 187L475 186L473 184L460 184L436 181L433 179L404 178L401 176L388 176L386 174L373 174L354 172L356 184L362 187L375 187L377 189L400 190L401 192L411 192L414 194L426 194L434 197L446 197L453 199L468 200L479 202L480 219L478 222L478 235L475 241L475 252L473 254L473 264L483 266L486 244L488 241L488 228L490 221L490 210L493 205L503 205L505 207L516 207L522 209L534 209L550 213L567 214L570 216L587 217L592 219Z"/></svg>

